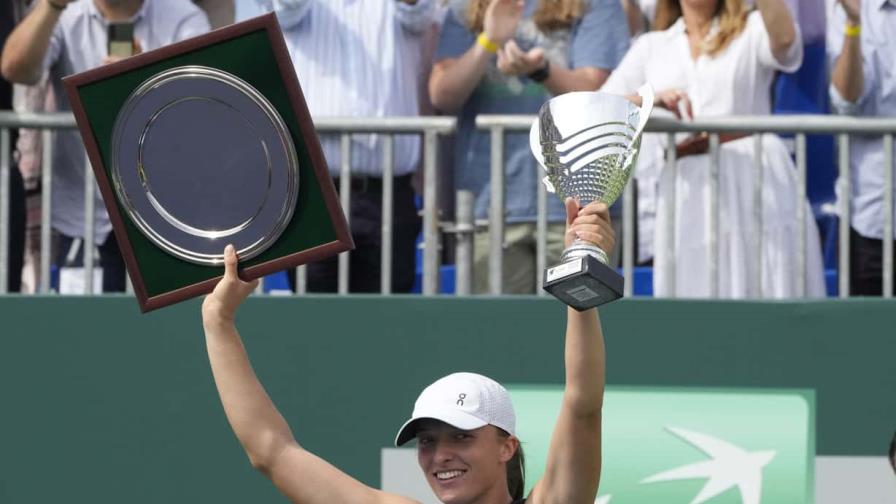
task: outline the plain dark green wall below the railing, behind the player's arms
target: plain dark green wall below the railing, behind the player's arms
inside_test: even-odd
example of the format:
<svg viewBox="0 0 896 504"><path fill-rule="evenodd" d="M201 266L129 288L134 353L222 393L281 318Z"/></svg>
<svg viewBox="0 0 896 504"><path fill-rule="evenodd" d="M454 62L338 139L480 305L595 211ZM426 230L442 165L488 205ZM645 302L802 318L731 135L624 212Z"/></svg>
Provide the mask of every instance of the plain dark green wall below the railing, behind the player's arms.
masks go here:
<svg viewBox="0 0 896 504"><path fill-rule="evenodd" d="M883 455L896 303L624 300L612 385L814 389L819 455ZM299 441L379 484L419 390L458 370L563 379L564 308L537 298L250 299L238 326ZM225 421L199 301L0 297L0 502L282 502ZM607 460L605 464L612 464Z"/></svg>

